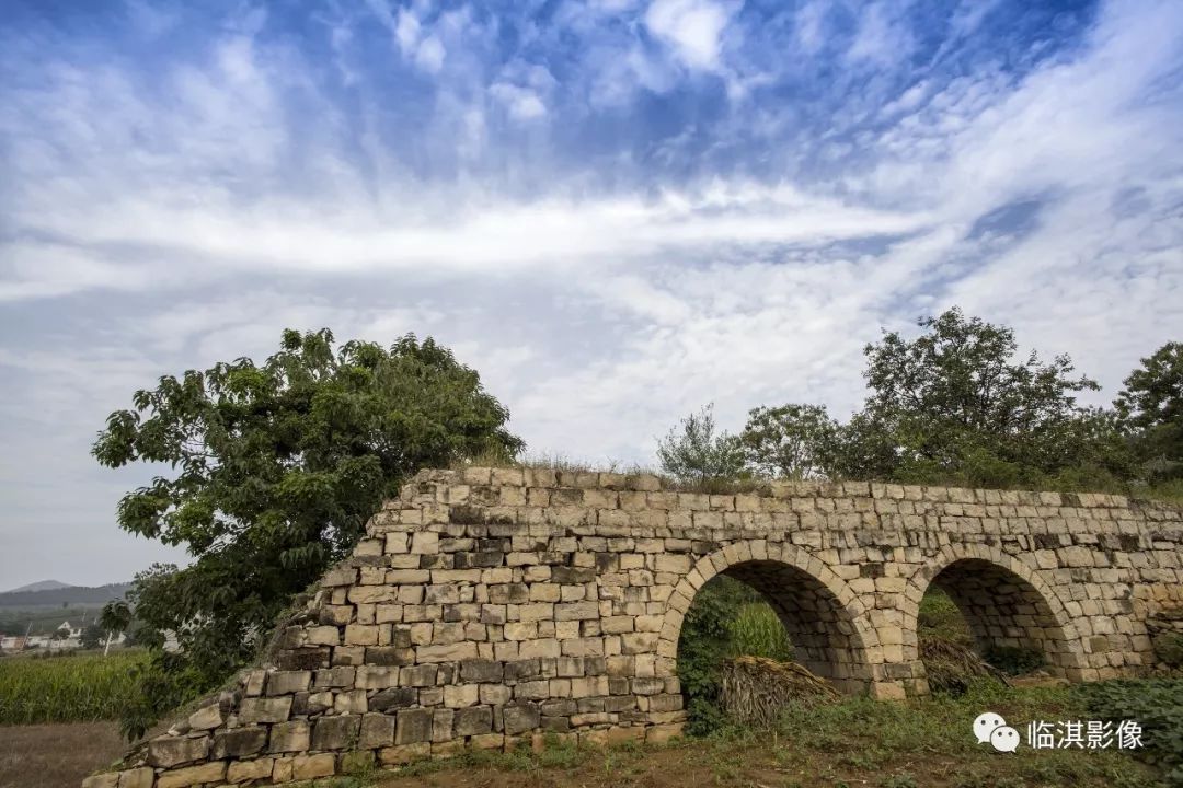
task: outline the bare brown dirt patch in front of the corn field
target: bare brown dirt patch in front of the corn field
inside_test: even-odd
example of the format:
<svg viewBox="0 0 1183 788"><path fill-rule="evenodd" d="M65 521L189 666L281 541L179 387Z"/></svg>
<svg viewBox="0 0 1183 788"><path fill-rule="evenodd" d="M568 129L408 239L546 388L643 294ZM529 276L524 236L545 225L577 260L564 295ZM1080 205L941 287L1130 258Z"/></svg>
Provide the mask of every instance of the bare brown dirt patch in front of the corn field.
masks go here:
<svg viewBox="0 0 1183 788"><path fill-rule="evenodd" d="M78 788L123 750L115 722L0 725L0 788Z"/></svg>

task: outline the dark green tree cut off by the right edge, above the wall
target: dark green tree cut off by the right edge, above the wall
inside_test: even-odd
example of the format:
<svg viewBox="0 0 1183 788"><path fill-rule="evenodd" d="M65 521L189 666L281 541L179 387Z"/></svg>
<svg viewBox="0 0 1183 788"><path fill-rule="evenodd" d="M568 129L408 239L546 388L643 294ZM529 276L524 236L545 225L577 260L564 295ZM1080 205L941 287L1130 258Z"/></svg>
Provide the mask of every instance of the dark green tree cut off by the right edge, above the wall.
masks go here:
<svg viewBox="0 0 1183 788"><path fill-rule="evenodd" d="M1142 359L1113 405L1150 480L1183 476L1183 343Z"/></svg>

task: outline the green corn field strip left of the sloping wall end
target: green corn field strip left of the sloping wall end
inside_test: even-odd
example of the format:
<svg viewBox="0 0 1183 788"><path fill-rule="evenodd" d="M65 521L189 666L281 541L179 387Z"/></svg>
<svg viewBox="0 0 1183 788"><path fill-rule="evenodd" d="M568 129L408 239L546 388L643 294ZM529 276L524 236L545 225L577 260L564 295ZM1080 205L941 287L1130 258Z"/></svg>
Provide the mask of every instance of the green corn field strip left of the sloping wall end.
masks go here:
<svg viewBox="0 0 1183 788"><path fill-rule="evenodd" d="M0 725L115 719L142 652L0 659Z"/></svg>

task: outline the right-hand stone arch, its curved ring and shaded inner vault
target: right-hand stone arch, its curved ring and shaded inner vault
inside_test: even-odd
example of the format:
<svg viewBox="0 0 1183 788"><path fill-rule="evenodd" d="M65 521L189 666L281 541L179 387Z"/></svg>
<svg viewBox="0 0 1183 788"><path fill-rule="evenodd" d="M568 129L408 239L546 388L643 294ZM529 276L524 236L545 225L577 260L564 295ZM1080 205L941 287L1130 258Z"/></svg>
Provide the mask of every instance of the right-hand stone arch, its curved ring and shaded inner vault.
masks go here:
<svg viewBox="0 0 1183 788"><path fill-rule="evenodd" d="M1022 660L1026 655L1036 655L1043 670L1061 677L1072 677L1080 667L1075 627L1054 592L1033 571L1004 555L943 558L924 572L927 579L922 579L923 585L916 585L910 597L919 600L930 588L944 592L964 618L981 656ZM917 608L911 613L907 645L918 653Z"/></svg>

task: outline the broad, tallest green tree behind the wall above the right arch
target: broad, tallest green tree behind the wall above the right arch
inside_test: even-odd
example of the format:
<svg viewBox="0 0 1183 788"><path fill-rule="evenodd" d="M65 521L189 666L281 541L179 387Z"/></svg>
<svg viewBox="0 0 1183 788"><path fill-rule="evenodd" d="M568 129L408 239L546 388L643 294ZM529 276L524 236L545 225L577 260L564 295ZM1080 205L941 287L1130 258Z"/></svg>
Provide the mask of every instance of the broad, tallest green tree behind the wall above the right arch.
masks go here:
<svg viewBox="0 0 1183 788"><path fill-rule="evenodd" d="M1014 331L957 308L919 321L907 340L867 345L866 405L842 430L841 470L854 477L1009 487L1123 473L1111 415L1077 404L1097 390L1067 356L1017 357Z"/></svg>

